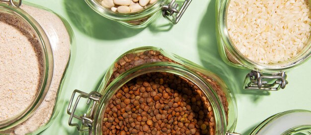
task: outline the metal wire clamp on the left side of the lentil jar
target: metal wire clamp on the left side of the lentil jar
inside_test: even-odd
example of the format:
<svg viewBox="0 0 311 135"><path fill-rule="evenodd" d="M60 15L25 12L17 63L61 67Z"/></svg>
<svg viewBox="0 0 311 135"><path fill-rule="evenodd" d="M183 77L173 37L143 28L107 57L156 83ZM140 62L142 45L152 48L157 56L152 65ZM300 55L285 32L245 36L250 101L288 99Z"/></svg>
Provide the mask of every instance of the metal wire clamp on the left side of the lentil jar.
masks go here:
<svg viewBox="0 0 311 135"><path fill-rule="evenodd" d="M72 104L74 102L74 98L75 98L76 93L79 93L79 95L77 97L77 100L76 100L75 105L74 105L72 112L71 112L71 107L72 107ZM78 105L78 102L79 102L81 97L82 98L88 98L87 102L86 102L87 105L90 104L91 102L93 102L93 105L91 108L91 113L89 115L87 115L86 113L84 113L82 116L75 115L77 105ZM88 94L88 93L82 92L82 91L77 90L77 89L74 90L72 97L70 99L68 108L67 108L67 114L70 115L68 124L70 126L73 126L73 127L76 126L78 128L78 131L81 131L81 132L90 130L92 128L92 125L93 125L93 120L92 120L93 110L95 108L96 103L99 101L100 97L101 97L101 94L96 92L96 91L92 91ZM72 123L73 118L80 120L82 122L82 126L86 127L87 129L81 130L78 123Z"/></svg>

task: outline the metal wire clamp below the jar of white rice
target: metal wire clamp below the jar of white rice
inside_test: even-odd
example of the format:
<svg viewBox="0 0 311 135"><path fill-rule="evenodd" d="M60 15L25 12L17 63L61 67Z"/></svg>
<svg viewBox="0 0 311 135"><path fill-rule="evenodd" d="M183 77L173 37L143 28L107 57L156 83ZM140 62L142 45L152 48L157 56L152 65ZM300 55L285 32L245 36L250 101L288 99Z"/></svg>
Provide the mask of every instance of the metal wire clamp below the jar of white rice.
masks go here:
<svg viewBox="0 0 311 135"><path fill-rule="evenodd" d="M261 72L252 70L245 77L244 89L277 91L280 88L284 89L288 84L286 77L285 72L263 75Z"/></svg>

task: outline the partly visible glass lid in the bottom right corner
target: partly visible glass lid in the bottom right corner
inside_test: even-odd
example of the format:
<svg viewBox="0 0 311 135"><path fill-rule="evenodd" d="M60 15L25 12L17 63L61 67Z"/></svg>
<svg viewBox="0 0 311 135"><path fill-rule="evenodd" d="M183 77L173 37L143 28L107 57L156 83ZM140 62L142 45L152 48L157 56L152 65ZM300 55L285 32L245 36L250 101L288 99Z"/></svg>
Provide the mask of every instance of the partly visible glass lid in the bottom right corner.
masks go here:
<svg viewBox="0 0 311 135"><path fill-rule="evenodd" d="M311 135L311 111L276 114L259 124L250 135Z"/></svg>

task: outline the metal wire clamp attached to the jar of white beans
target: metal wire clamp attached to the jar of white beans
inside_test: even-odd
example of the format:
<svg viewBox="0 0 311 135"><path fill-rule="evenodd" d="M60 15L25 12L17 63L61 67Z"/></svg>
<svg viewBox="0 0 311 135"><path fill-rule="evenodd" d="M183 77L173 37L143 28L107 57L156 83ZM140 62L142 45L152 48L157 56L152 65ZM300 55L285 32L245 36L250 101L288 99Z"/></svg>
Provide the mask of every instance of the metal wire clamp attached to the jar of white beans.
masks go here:
<svg viewBox="0 0 311 135"><path fill-rule="evenodd" d="M168 5L164 5L162 7L162 15L168 19L171 23L177 24L180 20L181 16L186 11L187 7L191 3L192 0L185 0L182 4L181 8L178 10L178 3L175 3L175 0L172 0L168 3ZM176 15L174 15L176 13Z"/></svg>

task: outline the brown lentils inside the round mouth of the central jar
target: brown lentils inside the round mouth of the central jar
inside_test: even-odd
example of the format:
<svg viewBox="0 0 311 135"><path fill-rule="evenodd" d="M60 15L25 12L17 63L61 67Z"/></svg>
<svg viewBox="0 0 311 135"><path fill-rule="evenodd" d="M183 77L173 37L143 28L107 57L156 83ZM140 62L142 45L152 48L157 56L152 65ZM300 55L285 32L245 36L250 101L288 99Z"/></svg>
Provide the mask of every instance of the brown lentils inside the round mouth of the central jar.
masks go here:
<svg viewBox="0 0 311 135"><path fill-rule="evenodd" d="M162 85L159 83L156 83L156 79L163 79ZM153 79L154 78L154 79ZM171 79L170 79L171 78ZM130 99L125 98L125 95L129 93L134 94L134 87L139 87L139 89L145 88L142 83L140 83L140 80L144 80L149 82L150 85L155 85L155 89L152 89L152 92L144 92L147 93L146 98L143 98L142 95L144 93L140 92L140 99L143 99L142 103L139 103L139 101L135 100L131 103ZM160 132L162 134L172 134L177 131L181 131L181 133L184 133L186 135L194 135L194 134L203 134L203 133L209 133L213 135L213 131L211 129L214 129L214 126L206 126L205 124L200 124L203 122L210 124L211 119L214 119L212 110L210 112L208 111L202 111L205 108L210 107L210 105L206 101L203 104L197 104L197 102L191 102L191 97L197 97L197 100L201 100L204 95L198 95L197 92L201 91L200 89L195 89L194 85L190 83L190 81L187 81L185 83L182 83L182 80L185 80L185 78L165 73L165 72L155 72L155 73L147 73L144 75L141 75L137 78L132 79L128 83L126 83L120 90L117 91L117 93L114 95L117 99L124 99L121 102L124 102L126 104L126 112L121 112L122 108L118 110L116 106L119 104L114 104L115 100L110 100L109 106L105 110L104 116L106 116L104 119L107 121L103 121L103 134L109 135L112 133L120 133L125 132L126 134L137 134L138 132L143 133L150 133L152 135L156 135L156 133ZM177 82L177 83L174 83ZM179 83L178 83L179 82ZM174 87L170 87L174 86ZM163 87L164 89L169 89L169 92L161 91L159 92L159 89ZM126 93L124 92L124 89L129 89L129 91ZM138 91L138 89L136 89ZM151 98L151 93L156 92L156 99ZM178 93L175 95L175 93ZM122 96L119 96L119 95ZM132 95L133 95L132 94ZM163 95L169 95L168 97L163 97ZM175 98L174 98L175 96ZM184 100L178 100L179 98L183 97ZM153 105L148 105L147 99L151 99ZM177 99L177 100L175 100ZM136 103L139 104L136 104ZM166 103L164 103L166 102ZM135 104L134 104L135 103ZM121 103L120 103L121 104ZM171 104L172 106L169 107L168 104ZM186 109L184 105L188 105L190 109ZM209 106L208 106L209 105ZM128 108L128 109L127 109ZM134 109L135 110L132 110ZM145 110L145 108L148 108ZM184 109L182 109L184 108ZM196 109L198 108L198 109ZM120 126L120 129L115 129L114 127L111 128L110 125L118 126L117 125L117 117L118 115L113 114L122 114L122 120L123 125ZM131 114L131 115L130 115ZM190 118L190 119L188 119ZM144 122L144 123L142 123ZM146 123L145 123L146 122ZM107 126L107 123L108 124ZM134 124L132 124L134 123ZM197 128L195 125L200 126ZM175 127L177 126L177 127ZM109 128L110 127L110 128ZM127 128L125 128L127 127ZM191 131L190 131L191 130ZM154 131L154 132L152 132ZM177 134L176 134L177 135Z"/></svg>

